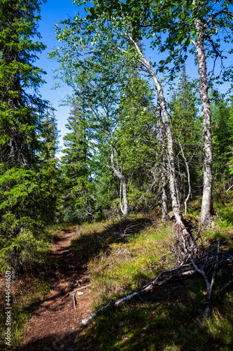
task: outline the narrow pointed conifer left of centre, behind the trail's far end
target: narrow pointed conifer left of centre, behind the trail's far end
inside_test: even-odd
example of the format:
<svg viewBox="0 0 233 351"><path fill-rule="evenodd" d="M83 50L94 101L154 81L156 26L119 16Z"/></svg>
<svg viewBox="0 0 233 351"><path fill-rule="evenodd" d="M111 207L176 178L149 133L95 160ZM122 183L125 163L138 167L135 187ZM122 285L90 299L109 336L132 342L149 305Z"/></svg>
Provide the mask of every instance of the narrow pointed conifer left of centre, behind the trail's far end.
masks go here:
<svg viewBox="0 0 233 351"><path fill-rule="evenodd" d="M73 109L68 118L62 157L62 197L60 211L64 220L85 218L94 204L94 184L90 171L90 148L87 135L87 117L82 101L73 98Z"/></svg>

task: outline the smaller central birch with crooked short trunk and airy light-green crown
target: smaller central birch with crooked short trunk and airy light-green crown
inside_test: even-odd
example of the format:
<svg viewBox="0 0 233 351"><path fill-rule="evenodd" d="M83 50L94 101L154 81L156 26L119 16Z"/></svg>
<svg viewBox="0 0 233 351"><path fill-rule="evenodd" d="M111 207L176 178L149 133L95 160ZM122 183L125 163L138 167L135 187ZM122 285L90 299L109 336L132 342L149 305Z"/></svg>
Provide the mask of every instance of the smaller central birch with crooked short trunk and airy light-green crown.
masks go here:
<svg viewBox="0 0 233 351"><path fill-rule="evenodd" d="M115 176L120 180L120 208L122 214L127 215L129 201L127 198L127 178L124 171L124 160L118 149L118 137L115 131L120 121L118 105L122 86L127 84L127 77L132 72L125 69L122 55L106 51L106 44L99 41L99 46L84 39L69 37L69 26L64 29L62 41L66 43L50 54L61 63L60 78L71 88L74 96L85 106L90 115L88 120L89 138L92 139L92 152L101 155L108 153L108 163ZM86 40L86 41L85 41ZM74 51L76 48L76 51ZM83 55L87 55L83 58ZM91 142L90 142L91 143ZM99 160L101 161L101 159Z"/></svg>

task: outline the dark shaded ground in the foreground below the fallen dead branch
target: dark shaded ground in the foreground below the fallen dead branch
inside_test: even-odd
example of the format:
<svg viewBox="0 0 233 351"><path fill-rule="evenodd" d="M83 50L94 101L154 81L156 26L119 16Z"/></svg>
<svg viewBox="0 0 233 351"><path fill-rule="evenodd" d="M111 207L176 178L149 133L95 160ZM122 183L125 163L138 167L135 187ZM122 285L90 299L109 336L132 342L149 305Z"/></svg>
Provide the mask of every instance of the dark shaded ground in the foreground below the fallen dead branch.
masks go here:
<svg viewBox="0 0 233 351"><path fill-rule="evenodd" d="M75 350L232 350L233 313L231 289L213 300L213 317L204 319L204 284L198 276L167 285L118 309L109 309L89 327L62 336ZM217 306L218 305L218 310ZM226 317L227 316L227 317ZM20 349L57 345L52 334ZM49 346L48 346L49 347Z"/></svg>

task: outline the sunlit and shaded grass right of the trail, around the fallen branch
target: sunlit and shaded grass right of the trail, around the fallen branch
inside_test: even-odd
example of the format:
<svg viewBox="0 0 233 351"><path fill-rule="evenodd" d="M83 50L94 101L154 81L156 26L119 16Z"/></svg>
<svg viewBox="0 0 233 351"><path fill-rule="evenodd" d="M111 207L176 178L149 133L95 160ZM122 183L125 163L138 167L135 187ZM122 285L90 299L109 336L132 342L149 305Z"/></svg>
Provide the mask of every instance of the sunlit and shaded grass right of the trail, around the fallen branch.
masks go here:
<svg viewBox="0 0 233 351"><path fill-rule="evenodd" d="M198 207L196 199L192 208L196 211ZM224 216L227 218L225 213L232 213L232 204L218 207L217 211L216 227L204 232L204 241L227 240L223 249L229 250L232 226L230 221L224 222ZM85 257L92 282L93 310L111 298L126 296L143 286L167 267L171 259L171 253L164 254L171 247L174 223L148 221L142 216L128 220L134 224L141 221L142 225L127 238L115 236L119 227L128 224L121 220L84 225L73 240L72 247L77 254L90 247ZM92 243L91 246L88 243ZM232 272L224 269L218 272L216 292L230 279L229 274ZM91 326L78 334L76 347L78 350L230 351L233 349L232 288L233 284L220 296L213 295L213 315L205 319L206 286L202 277L195 274L123 307L102 312Z"/></svg>

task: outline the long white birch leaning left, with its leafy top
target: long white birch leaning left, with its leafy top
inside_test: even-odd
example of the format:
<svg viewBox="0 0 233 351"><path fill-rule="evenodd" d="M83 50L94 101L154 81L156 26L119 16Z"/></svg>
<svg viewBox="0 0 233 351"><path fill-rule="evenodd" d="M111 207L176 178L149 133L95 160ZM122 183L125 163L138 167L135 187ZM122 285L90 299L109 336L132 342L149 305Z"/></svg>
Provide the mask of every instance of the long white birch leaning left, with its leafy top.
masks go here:
<svg viewBox="0 0 233 351"><path fill-rule="evenodd" d="M81 4L80 1L77 2L79 5ZM118 5L116 11L113 10L113 6L115 6L115 4ZM128 4L126 4L126 6L128 6ZM172 208L178 224L181 225L181 227L184 227L183 218L178 207L178 199L176 196L174 143L171 133L167 103L164 98L161 81L157 77L157 72L154 69L152 62L146 59L140 42L143 34L147 38L151 38L150 33L146 34L145 31L140 29L140 25L142 25L143 20L145 20L145 11L139 14L139 5L136 5L135 7L135 13L134 9L132 10L132 13L127 13L124 11L124 4L122 3L113 1L113 4L108 4L107 1L101 1L101 3L94 4L92 8L86 9L88 11L88 15L85 19L82 19L77 15L73 23L71 24L69 22L69 25L70 29L72 28L72 30L75 31L76 35L78 35L80 38L92 38L92 43L97 42L100 37L104 37L104 39L107 41L108 48L115 48L115 51L118 50L124 53L125 60L136 62L136 64L139 65L144 72L147 72L153 80L157 90L157 96L160 100L160 106L164 118L164 126L167 132L169 186ZM96 17L97 19L95 19ZM138 29L137 32L134 31L134 27Z"/></svg>

